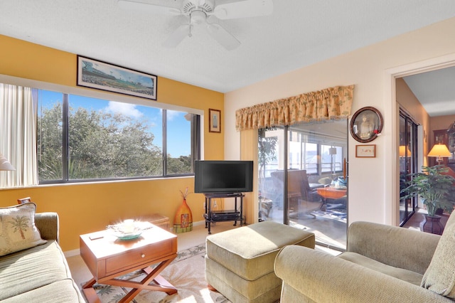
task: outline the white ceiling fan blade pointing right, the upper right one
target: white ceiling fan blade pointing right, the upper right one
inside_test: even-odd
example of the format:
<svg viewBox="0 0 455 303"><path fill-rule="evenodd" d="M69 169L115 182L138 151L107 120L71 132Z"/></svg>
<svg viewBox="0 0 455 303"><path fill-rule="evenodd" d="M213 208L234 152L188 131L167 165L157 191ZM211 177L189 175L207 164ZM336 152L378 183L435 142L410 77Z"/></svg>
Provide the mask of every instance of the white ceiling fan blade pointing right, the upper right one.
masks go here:
<svg viewBox="0 0 455 303"><path fill-rule="evenodd" d="M272 0L243 0L215 6L213 13L220 19L249 18L272 14Z"/></svg>

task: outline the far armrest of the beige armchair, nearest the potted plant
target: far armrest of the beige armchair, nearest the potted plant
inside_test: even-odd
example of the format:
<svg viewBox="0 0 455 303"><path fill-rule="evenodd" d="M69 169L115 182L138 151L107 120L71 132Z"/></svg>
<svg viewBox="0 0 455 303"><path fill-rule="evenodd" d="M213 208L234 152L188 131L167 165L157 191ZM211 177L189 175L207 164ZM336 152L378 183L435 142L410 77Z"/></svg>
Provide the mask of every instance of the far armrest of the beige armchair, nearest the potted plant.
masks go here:
<svg viewBox="0 0 455 303"><path fill-rule="evenodd" d="M347 251L423 275L432 260L439 235L370 222L353 222Z"/></svg>

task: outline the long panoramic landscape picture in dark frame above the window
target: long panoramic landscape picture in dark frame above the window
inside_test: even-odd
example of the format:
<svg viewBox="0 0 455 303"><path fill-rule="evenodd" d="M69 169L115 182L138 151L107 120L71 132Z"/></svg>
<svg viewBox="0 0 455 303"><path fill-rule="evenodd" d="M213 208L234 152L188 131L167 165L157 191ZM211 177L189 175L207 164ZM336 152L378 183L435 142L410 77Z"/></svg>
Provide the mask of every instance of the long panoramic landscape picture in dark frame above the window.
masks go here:
<svg viewBox="0 0 455 303"><path fill-rule="evenodd" d="M77 55L77 86L156 100L156 75Z"/></svg>

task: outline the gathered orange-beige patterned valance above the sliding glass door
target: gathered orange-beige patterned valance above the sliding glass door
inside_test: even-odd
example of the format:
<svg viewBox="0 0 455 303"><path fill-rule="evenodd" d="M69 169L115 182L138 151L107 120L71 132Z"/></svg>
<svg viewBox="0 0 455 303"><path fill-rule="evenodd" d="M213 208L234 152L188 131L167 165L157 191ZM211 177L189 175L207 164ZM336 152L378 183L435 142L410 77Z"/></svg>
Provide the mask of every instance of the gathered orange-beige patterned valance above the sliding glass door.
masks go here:
<svg viewBox="0 0 455 303"><path fill-rule="evenodd" d="M354 85L336 86L242 108L235 112L237 131L328 119L348 119Z"/></svg>

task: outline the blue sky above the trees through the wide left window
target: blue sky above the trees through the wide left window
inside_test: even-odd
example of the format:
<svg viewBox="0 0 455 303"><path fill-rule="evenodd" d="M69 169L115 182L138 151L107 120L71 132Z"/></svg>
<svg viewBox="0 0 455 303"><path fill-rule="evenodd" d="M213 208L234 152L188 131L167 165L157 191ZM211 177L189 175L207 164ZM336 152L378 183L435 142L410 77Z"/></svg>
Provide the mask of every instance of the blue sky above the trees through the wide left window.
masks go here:
<svg viewBox="0 0 455 303"><path fill-rule="evenodd" d="M53 107L55 102L61 102L62 93L40 90L40 102L44 107ZM96 110L111 113L122 113L134 119L147 119L149 132L154 134L156 146L162 148L163 136L161 125L161 109L132 105L129 103L100 100L92 97L70 95L70 107L85 107L87 110ZM191 154L190 122L184 115L186 112L168 110L168 154L173 157L188 156Z"/></svg>

